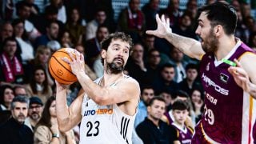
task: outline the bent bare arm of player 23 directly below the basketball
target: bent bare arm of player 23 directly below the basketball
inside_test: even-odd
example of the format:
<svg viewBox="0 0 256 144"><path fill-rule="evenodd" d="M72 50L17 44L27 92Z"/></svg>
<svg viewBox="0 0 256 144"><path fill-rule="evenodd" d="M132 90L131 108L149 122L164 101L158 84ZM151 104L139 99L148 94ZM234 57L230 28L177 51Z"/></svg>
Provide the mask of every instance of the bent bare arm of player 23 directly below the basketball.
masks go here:
<svg viewBox="0 0 256 144"><path fill-rule="evenodd" d="M82 119L81 108L84 91L79 92L78 97L71 103L70 107L66 104L67 86L56 82L56 113L58 119L58 128L62 132L71 130Z"/></svg>

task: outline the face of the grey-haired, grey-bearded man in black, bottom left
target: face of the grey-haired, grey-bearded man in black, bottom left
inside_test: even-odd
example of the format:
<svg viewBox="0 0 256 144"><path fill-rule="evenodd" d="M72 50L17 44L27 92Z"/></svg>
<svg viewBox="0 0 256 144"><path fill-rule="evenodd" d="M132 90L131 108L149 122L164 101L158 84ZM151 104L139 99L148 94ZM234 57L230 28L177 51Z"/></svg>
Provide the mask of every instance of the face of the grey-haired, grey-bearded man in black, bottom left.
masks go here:
<svg viewBox="0 0 256 144"><path fill-rule="evenodd" d="M14 105L15 105L14 109L11 110L12 117L17 122L22 124L25 121L26 116L28 114L27 104L26 103L22 103L22 102L14 102Z"/></svg>

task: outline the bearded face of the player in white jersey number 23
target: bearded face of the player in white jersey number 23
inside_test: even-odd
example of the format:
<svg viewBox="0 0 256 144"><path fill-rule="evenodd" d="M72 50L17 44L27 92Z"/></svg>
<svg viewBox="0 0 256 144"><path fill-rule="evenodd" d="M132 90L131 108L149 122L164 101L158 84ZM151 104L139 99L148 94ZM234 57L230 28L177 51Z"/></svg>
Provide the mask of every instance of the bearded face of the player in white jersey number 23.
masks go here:
<svg viewBox="0 0 256 144"><path fill-rule="evenodd" d="M102 51L102 58L106 60L106 72L118 74L126 66L130 45L122 40L112 40L107 50Z"/></svg>

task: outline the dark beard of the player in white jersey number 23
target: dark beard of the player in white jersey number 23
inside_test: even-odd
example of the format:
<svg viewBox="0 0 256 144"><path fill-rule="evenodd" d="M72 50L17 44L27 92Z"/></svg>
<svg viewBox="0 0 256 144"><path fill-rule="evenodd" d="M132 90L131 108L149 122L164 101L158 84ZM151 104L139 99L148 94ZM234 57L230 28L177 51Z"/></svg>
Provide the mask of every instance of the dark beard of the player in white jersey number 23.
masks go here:
<svg viewBox="0 0 256 144"><path fill-rule="evenodd" d="M122 58L122 64L114 62L118 58L114 58L112 62L106 62L106 71L110 74L119 74L124 69L124 60Z"/></svg>

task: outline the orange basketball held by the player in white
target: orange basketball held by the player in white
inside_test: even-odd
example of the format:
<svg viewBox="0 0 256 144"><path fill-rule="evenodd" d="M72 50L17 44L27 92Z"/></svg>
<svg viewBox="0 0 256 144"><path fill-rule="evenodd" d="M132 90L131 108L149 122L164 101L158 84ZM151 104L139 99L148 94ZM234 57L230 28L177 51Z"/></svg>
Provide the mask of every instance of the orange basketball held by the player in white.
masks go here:
<svg viewBox="0 0 256 144"><path fill-rule="evenodd" d="M71 54L74 54L74 49L72 48L62 48L52 54L49 62L49 71L51 76L56 79L56 81L65 85L70 85L74 82L77 82L78 79L72 73L70 65L62 60L62 58L65 57L71 60L67 51L70 51Z"/></svg>

